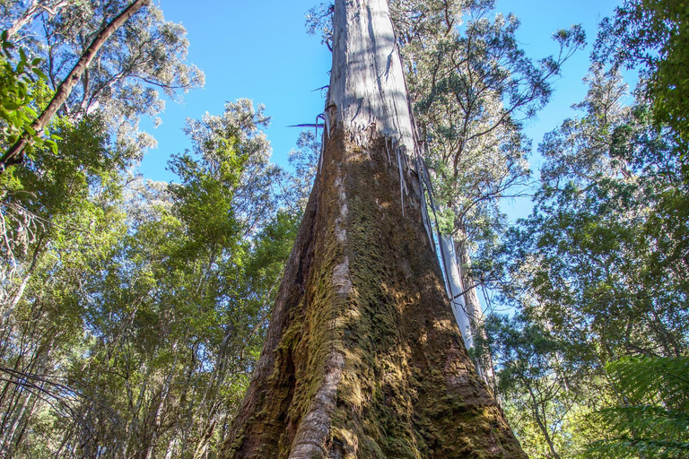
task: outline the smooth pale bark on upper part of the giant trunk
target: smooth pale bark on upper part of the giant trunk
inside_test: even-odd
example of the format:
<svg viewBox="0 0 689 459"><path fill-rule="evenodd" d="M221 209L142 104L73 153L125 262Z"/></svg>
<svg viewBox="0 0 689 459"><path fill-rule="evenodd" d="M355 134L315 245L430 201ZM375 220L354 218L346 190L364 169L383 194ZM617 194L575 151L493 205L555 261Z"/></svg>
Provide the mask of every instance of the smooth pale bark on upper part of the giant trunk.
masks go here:
<svg viewBox="0 0 689 459"><path fill-rule="evenodd" d="M333 22L326 117L350 133L382 134L414 152L405 74L387 0L336 0Z"/></svg>

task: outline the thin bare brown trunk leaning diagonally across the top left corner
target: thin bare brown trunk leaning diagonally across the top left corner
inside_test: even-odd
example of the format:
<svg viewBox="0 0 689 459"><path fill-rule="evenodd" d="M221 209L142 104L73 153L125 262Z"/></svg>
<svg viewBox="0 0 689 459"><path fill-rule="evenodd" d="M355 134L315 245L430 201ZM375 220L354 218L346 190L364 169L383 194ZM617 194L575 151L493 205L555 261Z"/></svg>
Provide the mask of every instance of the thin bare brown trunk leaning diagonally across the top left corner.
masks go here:
<svg viewBox="0 0 689 459"><path fill-rule="evenodd" d="M84 70L86 70L89 65L91 65L93 58L98 54L98 51L103 46L103 44L109 39L109 37L115 33L130 17L132 17L137 11L139 11L145 4L149 4L151 0L135 0L132 4L127 6L122 13L113 19L111 22L106 24L93 39L89 48L83 52L82 56L77 61L76 65L72 71L67 75L65 80L57 86L57 91L53 99L48 103L43 112L38 118L31 124L31 128L40 133L46 126L50 119L55 116L57 110L62 107L69 95L74 89L74 85L79 82L82 77ZM4 152L4 155L0 157L0 173L4 171L7 166L16 164L22 161L22 152L31 143L31 135L24 132L19 140L13 144Z"/></svg>

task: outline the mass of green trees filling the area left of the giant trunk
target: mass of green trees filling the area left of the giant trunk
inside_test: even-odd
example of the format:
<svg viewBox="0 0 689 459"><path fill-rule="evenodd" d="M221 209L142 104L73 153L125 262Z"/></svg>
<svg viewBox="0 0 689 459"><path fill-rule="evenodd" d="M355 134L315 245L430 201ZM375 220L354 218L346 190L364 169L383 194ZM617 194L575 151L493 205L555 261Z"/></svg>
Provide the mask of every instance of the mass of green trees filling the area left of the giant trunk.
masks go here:
<svg viewBox="0 0 689 459"><path fill-rule="evenodd" d="M3 455L214 451L257 363L300 219L276 210L266 117L190 123L173 184L127 177L108 119L58 118L57 155L0 178Z"/></svg>

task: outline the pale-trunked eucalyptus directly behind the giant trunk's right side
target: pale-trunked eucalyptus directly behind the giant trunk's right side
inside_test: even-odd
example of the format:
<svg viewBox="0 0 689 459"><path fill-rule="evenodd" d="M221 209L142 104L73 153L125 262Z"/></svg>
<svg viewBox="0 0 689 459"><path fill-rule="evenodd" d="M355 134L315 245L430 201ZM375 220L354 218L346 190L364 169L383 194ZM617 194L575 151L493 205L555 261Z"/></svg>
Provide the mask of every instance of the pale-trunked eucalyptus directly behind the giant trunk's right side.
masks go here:
<svg viewBox="0 0 689 459"><path fill-rule="evenodd" d="M491 19L493 7L491 0L390 2L434 188L449 296L467 346L481 316L471 253L504 224L500 199L525 192L530 143L522 124L545 106L563 63L584 44L579 26L558 30L559 55L534 62L515 38L517 18ZM332 13L331 4L320 4L307 20L329 48Z"/></svg>

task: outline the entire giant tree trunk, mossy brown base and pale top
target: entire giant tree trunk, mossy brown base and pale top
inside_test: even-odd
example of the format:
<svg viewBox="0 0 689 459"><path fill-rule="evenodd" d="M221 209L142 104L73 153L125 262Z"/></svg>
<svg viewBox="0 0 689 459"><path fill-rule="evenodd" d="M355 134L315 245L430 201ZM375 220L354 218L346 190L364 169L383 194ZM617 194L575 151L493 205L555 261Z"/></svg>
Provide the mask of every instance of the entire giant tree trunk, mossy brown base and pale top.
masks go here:
<svg viewBox="0 0 689 459"><path fill-rule="evenodd" d="M324 152L224 458L526 458L476 375L406 153L386 0L336 0Z"/></svg>

